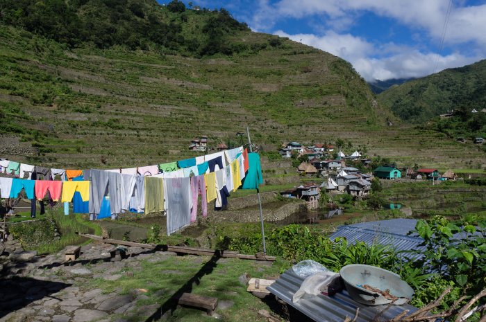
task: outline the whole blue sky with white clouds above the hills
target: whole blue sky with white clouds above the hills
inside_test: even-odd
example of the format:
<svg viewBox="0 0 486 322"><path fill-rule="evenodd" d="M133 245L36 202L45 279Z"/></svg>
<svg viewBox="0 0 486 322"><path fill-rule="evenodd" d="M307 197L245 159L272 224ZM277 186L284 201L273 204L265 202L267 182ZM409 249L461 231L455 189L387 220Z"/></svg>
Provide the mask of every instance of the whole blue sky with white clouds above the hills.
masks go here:
<svg viewBox="0 0 486 322"><path fill-rule="evenodd" d="M419 78L486 58L486 0L192 0L192 4L225 8L253 31L289 37L342 57L369 82Z"/></svg>

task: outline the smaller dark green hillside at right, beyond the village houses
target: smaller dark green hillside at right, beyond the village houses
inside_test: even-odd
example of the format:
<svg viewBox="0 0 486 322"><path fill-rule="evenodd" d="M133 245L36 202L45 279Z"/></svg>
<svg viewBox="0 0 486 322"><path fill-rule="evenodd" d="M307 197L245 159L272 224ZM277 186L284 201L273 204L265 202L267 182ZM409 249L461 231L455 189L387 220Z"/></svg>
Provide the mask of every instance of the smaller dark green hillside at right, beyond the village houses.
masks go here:
<svg viewBox="0 0 486 322"><path fill-rule="evenodd" d="M380 93L381 104L411 123L452 109L486 107L486 60L405 82Z"/></svg>

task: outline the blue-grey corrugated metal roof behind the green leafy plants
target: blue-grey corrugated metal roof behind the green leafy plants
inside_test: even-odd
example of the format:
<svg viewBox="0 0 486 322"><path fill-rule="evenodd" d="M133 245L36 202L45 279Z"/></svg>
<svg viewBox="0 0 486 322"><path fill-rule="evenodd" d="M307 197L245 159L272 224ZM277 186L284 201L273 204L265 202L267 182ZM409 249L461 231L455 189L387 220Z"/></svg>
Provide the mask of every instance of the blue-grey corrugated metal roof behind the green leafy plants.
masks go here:
<svg viewBox="0 0 486 322"><path fill-rule="evenodd" d="M424 242L422 238L418 235L406 235L415 228L416 223L417 220L394 219L339 226L337 231L330 235L330 240L344 237L351 243L360 241L367 244L390 245L396 251L422 250L425 249L419 247L419 244ZM422 255L411 256L410 253L405 256L415 259L422 257Z"/></svg>

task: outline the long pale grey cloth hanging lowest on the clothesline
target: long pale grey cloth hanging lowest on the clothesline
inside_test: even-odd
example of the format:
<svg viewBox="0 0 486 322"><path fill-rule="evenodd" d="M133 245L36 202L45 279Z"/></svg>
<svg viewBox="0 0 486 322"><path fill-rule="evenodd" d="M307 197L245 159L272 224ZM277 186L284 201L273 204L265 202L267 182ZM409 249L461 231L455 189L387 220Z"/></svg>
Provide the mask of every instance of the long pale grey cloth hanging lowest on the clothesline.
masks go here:
<svg viewBox="0 0 486 322"><path fill-rule="evenodd" d="M164 179L167 200L167 235L190 224L192 194L190 178Z"/></svg>

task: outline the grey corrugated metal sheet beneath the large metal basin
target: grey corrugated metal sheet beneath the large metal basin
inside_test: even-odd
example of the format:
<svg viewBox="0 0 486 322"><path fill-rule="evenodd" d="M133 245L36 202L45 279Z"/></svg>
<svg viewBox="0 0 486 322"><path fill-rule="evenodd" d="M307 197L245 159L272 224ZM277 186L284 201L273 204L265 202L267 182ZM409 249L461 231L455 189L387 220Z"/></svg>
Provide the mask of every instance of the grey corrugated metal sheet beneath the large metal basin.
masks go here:
<svg viewBox="0 0 486 322"><path fill-rule="evenodd" d="M375 321L374 319L380 312L383 313L380 314L376 321L387 321L404 310L409 310L410 313L417 310L412 305L392 305L388 307L387 305L369 306L360 304L353 301L345 290L335 294L335 296L305 294L299 301L292 303L292 296L301 287L303 280L304 278L297 276L292 269L289 269L280 275L276 282L267 287L267 289L278 296L278 298L295 307L296 310L317 322L343 322L346 316L353 319L357 307L360 307L357 322Z"/></svg>

